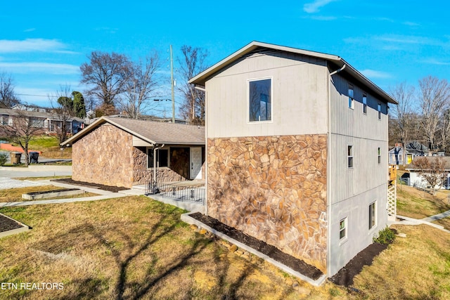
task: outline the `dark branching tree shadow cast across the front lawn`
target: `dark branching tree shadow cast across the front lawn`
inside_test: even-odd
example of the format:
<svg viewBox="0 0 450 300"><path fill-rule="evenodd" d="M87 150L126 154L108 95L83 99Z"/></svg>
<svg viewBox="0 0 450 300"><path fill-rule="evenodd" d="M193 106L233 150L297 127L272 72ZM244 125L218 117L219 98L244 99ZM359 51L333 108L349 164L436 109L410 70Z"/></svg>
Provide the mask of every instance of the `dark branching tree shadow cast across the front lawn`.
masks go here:
<svg viewBox="0 0 450 300"><path fill-rule="evenodd" d="M136 268L136 263L139 263L143 256L153 256L153 253L155 253L155 256L158 254L165 255L165 251L172 251L172 249L164 249L164 252L158 252L160 245L155 246L155 243L166 235L177 234L174 233L177 227L179 227L179 223L174 222L173 216L162 214L161 218L151 225L145 234L141 235L142 239L136 240L136 237L133 238L133 233L127 233L127 228L121 226L120 223L114 223L103 228L94 226L92 223L84 223L83 225L69 228L56 236L47 237L46 240L34 244L32 247L51 254L68 252L80 242L84 243L81 247L85 249L103 247L113 257L115 268L117 268L117 272L115 271L117 275L114 276L117 276L117 278L102 279L101 276L97 278L96 276L89 276L89 278L74 279L65 284L65 290L68 292L67 294L65 292L60 299L92 299L104 296L105 293L108 293L108 284L115 282L115 299L122 300L158 296L158 293L161 292L160 289L165 288L163 285L158 285L158 283L167 279L170 275L176 274L177 271L197 263L199 259L203 260L203 250L208 245L212 245L214 247L212 249L214 259L211 260L210 257L205 257L205 261L200 263L215 263L217 265L217 272L213 274L218 278L217 285L214 287L214 295L222 295L222 299L236 299L236 292L239 287L243 285L245 278L255 270L256 266L245 262L245 268L240 270L240 275L237 278L233 278L233 280L227 278L230 266L229 263L221 261L219 256L216 255L220 252L219 247L221 246L214 242L214 237L208 238L196 234L188 249L184 249L182 253L176 256L174 261L167 263L162 270L160 266L157 266L158 258L146 259L146 265L141 266L146 268L145 273L139 277L134 273L129 276L134 270L133 268ZM110 232L117 233L119 238L111 238ZM136 236L136 232L134 232L134 235ZM118 242L122 243L122 249L117 249ZM210 261L206 261L207 259ZM154 270L158 270L156 274ZM174 285L176 283L174 282ZM76 290L70 290L71 285L77 287ZM191 287L186 288L188 293L190 293L196 287L195 284L191 284Z"/></svg>

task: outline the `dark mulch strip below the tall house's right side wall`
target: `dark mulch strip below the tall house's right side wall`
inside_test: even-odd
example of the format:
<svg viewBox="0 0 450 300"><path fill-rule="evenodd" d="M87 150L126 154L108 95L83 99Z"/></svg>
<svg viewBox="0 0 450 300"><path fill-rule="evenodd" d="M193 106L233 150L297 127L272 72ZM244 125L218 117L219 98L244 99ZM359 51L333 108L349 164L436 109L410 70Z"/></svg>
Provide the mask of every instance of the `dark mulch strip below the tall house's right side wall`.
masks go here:
<svg viewBox="0 0 450 300"><path fill-rule="evenodd" d="M361 273L364 266L371 266L373 258L383 252L387 244L370 244L366 249L359 252L349 261L344 268L340 269L333 277L328 278L335 285L349 287L353 285L353 278Z"/></svg>

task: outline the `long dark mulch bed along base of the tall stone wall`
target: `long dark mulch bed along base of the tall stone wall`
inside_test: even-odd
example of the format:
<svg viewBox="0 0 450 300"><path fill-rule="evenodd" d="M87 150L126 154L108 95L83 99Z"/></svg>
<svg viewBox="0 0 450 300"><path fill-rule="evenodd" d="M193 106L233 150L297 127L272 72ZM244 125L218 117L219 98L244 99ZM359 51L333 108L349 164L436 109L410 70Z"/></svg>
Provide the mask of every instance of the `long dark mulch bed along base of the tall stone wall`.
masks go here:
<svg viewBox="0 0 450 300"><path fill-rule="evenodd" d="M224 233L224 235L227 235L234 240L237 240L238 242L241 242L248 247L257 250L258 252L261 252L262 254L266 254L266 256L269 256L271 259L274 259L279 263L283 263L283 265L288 266L289 268L301 273L302 275L307 276L308 278L317 280L321 277L321 275L323 275L321 270L309 265L308 263L305 263L301 259L296 259L289 254L285 254L276 247L266 244L266 242L262 242L261 240L257 240L255 237L246 235L242 231L227 226L226 224L221 223L220 221L217 221L210 216L205 216L204 214L200 214L199 212L190 214L189 216L204 223L207 226L210 226L211 228L214 228L214 230L217 230L220 233Z"/></svg>

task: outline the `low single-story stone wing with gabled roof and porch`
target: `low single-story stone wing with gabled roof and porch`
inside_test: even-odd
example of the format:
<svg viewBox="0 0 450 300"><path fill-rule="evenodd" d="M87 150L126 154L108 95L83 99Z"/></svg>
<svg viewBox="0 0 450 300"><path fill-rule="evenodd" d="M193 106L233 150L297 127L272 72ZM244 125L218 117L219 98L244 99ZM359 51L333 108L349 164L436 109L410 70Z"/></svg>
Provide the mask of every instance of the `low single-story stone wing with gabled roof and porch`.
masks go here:
<svg viewBox="0 0 450 300"><path fill-rule="evenodd" d="M72 145L72 179L131 188L204 178L200 126L101 117L61 145Z"/></svg>

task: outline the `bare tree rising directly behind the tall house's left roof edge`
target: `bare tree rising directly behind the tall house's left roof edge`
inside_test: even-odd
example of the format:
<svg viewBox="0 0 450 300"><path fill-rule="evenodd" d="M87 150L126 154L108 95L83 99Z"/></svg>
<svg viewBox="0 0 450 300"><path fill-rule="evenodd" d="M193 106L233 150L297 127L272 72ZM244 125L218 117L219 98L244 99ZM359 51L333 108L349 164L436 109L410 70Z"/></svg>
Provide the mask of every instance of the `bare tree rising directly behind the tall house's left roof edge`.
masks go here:
<svg viewBox="0 0 450 300"><path fill-rule="evenodd" d="M178 90L183 93L184 103L181 106L181 114L191 120L193 124L205 124L205 92L195 89L188 80L205 70L207 51L202 48L182 46L183 58L179 61L180 75L184 84Z"/></svg>

